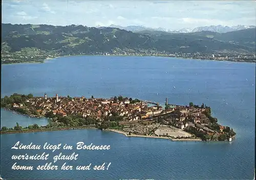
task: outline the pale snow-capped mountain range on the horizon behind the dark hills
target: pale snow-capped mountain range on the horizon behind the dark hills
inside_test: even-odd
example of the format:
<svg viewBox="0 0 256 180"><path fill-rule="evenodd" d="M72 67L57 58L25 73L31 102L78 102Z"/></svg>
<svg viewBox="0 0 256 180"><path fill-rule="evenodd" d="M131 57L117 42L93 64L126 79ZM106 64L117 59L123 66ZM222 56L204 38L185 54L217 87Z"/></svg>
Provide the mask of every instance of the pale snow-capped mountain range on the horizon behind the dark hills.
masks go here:
<svg viewBox="0 0 256 180"><path fill-rule="evenodd" d="M97 26L98 28L100 26ZM212 32L217 32L217 33L226 33L226 32L231 32L231 31L239 31L239 30L244 30L244 29L251 29L255 28L255 26L244 26L244 25L238 25L238 26L204 26L204 27L197 27L194 29L189 29L189 28L183 28L180 30L171 30L171 29L164 29L164 28L147 28L144 26L116 26L116 25L110 25L110 28L119 28L123 29L126 31L132 31L132 32L139 32L139 31L162 31L162 32L168 32L168 33L191 33L191 32L200 32L200 31L212 31Z"/></svg>

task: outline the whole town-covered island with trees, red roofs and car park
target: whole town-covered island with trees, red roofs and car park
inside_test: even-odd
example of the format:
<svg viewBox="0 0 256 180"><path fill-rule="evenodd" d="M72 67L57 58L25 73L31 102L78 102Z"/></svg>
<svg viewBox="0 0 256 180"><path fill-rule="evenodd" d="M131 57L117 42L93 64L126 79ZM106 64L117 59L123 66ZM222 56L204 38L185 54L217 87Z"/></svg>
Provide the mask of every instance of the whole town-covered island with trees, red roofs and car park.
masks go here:
<svg viewBox="0 0 256 180"><path fill-rule="evenodd" d="M2 127L2 133L99 128L127 137L163 138L172 141L232 141L236 132L218 124L205 104L169 104L127 97L33 97L14 93L1 98L1 107L30 117L49 118L49 124Z"/></svg>

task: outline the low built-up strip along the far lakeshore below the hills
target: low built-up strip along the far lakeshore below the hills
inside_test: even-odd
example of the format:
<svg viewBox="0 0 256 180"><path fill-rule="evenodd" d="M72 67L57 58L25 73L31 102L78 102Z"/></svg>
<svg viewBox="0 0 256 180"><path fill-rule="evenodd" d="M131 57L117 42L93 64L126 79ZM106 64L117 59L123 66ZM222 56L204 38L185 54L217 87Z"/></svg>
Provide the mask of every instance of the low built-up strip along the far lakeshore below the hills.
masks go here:
<svg viewBox="0 0 256 180"><path fill-rule="evenodd" d="M58 56L65 56L67 54L59 54L59 53L44 53L40 52L38 49L33 51L34 53L27 53L23 51L9 53L2 52L2 63L16 63L16 62L27 62L27 61L38 61L42 62L42 59L54 58ZM68 55L86 55L86 54L68 54ZM113 52L95 52L90 55L129 55L129 56L165 56L165 57L175 57L175 58L184 58L184 59L209 59L209 60L226 60L226 61L244 61L244 62L256 62L255 54L238 54L236 52L233 53L173 53L169 54L165 51L139 51L135 52L134 50L113 50Z"/></svg>

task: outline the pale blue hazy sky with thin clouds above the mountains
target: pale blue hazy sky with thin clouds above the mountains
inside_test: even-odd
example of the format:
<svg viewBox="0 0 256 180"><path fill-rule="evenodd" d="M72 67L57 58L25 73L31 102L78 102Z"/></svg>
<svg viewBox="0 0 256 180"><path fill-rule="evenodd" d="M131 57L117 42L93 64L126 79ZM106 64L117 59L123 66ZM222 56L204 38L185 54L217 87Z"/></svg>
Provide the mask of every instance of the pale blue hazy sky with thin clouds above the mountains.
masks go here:
<svg viewBox="0 0 256 180"><path fill-rule="evenodd" d="M152 28L254 25L255 1L2 1L11 24L143 25Z"/></svg>

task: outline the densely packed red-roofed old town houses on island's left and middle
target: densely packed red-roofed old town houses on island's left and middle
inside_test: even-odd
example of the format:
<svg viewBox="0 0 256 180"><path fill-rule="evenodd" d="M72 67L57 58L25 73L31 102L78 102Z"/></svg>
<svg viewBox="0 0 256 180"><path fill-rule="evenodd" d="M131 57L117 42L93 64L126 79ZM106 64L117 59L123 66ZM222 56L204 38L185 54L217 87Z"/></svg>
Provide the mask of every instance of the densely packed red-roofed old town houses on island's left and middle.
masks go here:
<svg viewBox="0 0 256 180"><path fill-rule="evenodd" d="M57 94L53 98L35 97L28 99L26 105L31 109L36 109L41 115L45 115L48 111L52 111L54 115L81 115L86 118L102 120L105 117L121 116L123 121L136 121L151 116L159 115L163 109L161 106L148 107L147 103L130 103L128 98L122 101L111 99L96 99L85 97L59 97ZM22 107L23 104L14 104L13 107Z"/></svg>

